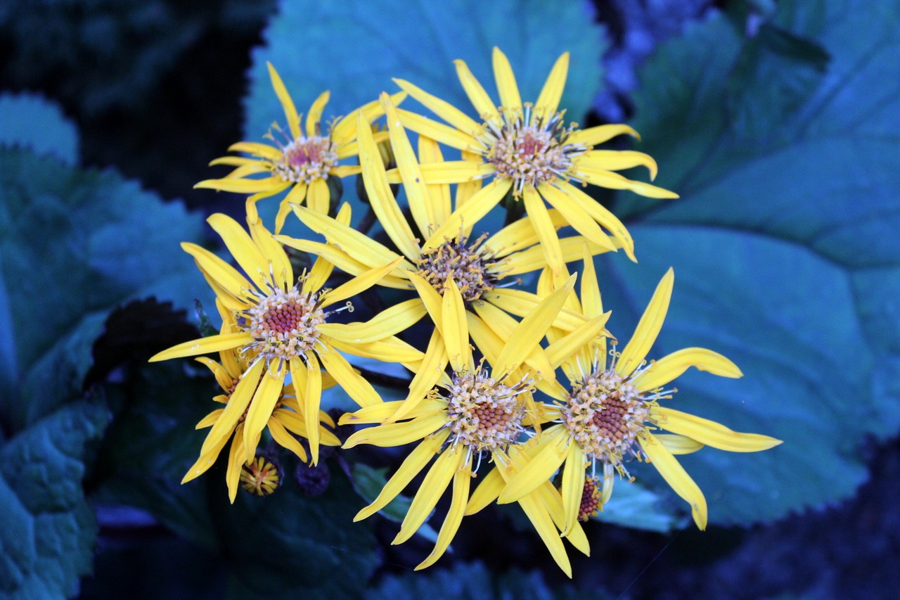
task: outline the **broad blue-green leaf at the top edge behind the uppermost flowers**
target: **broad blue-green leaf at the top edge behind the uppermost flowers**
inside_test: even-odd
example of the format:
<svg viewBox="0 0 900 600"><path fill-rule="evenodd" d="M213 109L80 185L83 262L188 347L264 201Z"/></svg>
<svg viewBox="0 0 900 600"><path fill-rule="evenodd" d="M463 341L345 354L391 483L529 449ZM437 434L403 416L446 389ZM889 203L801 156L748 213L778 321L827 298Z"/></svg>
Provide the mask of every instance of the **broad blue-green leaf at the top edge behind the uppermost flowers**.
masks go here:
<svg viewBox="0 0 900 600"><path fill-rule="evenodd" d="M266 61L278 69L298 111L308 112L316 96L329 89L326 119L348 114L382 91L399 91L392 77L407 79L478 116L456 78L454 59L466 61L496 103L491 49L500 47L509 57L522 99L534 101L554 61L568 50L572 63L560 108L579 121L599 87L599 57L605 47L587 5L537 0L284 0L263 37L266 45L254 51L250 70L250 141L259 140L273 122L284 126ZM417 105L413 110L427 109Z"/></svg>

